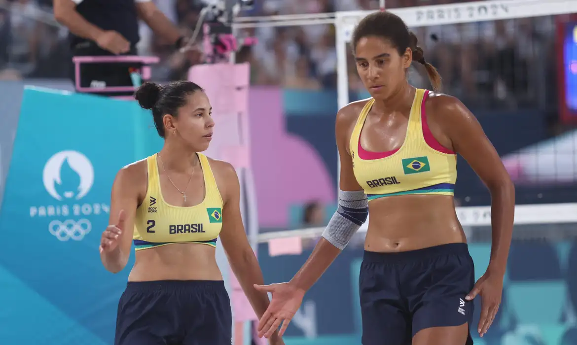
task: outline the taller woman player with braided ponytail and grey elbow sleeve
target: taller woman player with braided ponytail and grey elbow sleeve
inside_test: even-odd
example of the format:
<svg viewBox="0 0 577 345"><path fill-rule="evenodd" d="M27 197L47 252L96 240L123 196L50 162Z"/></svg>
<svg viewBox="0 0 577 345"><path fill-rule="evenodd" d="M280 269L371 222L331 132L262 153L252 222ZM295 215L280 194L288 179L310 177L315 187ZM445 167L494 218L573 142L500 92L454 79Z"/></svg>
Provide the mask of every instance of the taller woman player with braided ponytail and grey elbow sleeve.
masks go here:
<svg viewBox="0 0 577 345"><path fill-rule="evenodd" d="M437 91L440 76L417 38L389 12L365 17L353 34L357 70L372 98L336 117L339 208L309 259L272 292L260 336L282 335L305 291L370 222L359 278L365 345L472 343L473 298L482 297L478 332L487 332L501 301L511 243L515 190L499 155L459 100L407 83L417 61ZM474 281L473 261L455 214L456 154L492 195L489 267Z"/></svg>

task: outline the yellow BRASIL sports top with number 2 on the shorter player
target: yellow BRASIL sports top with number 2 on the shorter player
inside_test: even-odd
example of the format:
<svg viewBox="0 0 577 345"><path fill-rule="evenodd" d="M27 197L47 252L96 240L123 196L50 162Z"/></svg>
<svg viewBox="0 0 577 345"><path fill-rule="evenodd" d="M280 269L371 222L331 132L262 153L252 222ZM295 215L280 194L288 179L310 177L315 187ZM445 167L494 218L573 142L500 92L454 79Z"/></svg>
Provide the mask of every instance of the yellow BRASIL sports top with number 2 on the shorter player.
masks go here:
<svg viewBox="0 0 577 345"><path fill-rule="evenodd" d="M206 156L197 153L204 177L204 200L192 207L168 205L160 191L156 155L147 158L148 190L136 209L133 243L135 250L202 243L216 247L222 227L223 202Z"/></svg>

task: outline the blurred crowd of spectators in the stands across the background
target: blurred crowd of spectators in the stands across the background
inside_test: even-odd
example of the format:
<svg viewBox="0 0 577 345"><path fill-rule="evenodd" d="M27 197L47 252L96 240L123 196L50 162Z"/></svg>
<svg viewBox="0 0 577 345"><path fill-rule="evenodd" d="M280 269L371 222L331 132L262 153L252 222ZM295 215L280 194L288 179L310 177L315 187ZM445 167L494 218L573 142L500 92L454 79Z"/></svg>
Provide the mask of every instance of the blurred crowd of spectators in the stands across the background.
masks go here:
<svg viewBox="0 0 577 345"><path fill-rule="evenodd" d="M155 0L183 32L190 32L206 1ZM387 8L451 3L451 0L387 0ZM460 1L463 2L463 1ZM245 15L323 13L378 9L377 0L256 0ZM415 28L429 62L444 78L444 91L475 106L546 107L556 103L556 50L553 17ZM0 79L66 78L70 57L66 29L51 16L51 0L0 0ZM245 32L258 44L238 54L252 63L252 83L286 88L336 87L335 29L332 25L258 28ZM156 80L185 76L191 59L175 52L145 26L140 54L159 55ZM362 89L349 58L353 91ZM426 87L422 70L411 81Z"/></svg>

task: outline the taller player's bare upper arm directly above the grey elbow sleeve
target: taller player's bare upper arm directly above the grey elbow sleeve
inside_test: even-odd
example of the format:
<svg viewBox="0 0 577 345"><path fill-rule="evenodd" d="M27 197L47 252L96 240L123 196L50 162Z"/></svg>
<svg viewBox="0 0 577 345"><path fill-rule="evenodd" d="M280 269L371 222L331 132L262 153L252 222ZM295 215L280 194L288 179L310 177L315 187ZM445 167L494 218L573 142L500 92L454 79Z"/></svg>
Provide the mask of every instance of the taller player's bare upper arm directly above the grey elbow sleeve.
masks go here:
<svg viewBox="0 0 577 345"><path fill-rule="evenodd" d="M342 111L342 110L341 110ZM344 118L344 115L337 114L335 124L336 146L339 150L339 188L340 190L354 191L362 190L361 185L355 178L353 170L353 158L349 152L350 141L350 121Z"/></svg>

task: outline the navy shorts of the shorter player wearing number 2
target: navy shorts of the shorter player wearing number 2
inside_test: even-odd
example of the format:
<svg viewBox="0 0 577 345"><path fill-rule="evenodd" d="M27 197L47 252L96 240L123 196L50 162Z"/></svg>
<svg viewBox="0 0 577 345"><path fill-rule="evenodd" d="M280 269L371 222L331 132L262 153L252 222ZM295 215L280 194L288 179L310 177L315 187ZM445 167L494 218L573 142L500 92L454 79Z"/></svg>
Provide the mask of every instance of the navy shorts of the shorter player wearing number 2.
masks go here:
<svg viewBox="0 0 577 345"><path fill-rule="evenodd" d="M224 283L129 282L118 303L115 345L230 345L233 317Z"/></svg>

